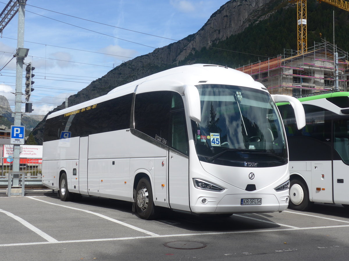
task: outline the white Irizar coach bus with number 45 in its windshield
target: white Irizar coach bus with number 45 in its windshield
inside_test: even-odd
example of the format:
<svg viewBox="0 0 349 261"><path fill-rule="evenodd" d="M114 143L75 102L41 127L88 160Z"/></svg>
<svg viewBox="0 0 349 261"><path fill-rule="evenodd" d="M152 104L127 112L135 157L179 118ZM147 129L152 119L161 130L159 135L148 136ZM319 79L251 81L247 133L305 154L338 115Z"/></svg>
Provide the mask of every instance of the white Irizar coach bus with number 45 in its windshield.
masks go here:
<svg viewBox="0 0 349 261"><path fill-rule="evenodd" d="M153 74L50 114L43 183L64 201L81 195L131 201L143 219L153 219L159 207L222 215L283 211L288 149L277 101L294 105L302 128L297 99L270 96L245 73L195 64Z"/></svg>

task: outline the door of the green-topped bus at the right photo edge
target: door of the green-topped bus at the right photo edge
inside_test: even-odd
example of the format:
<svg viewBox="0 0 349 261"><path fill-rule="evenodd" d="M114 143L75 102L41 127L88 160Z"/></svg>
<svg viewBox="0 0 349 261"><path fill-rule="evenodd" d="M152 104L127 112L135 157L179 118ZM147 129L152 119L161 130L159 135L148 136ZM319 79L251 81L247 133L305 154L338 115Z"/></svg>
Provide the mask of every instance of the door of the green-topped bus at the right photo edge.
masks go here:
<svg viewBox="0 0 349 261"><path fill-rule="evenodd" d="M333 201L349 204L349 119L333 120Z"/></svg>

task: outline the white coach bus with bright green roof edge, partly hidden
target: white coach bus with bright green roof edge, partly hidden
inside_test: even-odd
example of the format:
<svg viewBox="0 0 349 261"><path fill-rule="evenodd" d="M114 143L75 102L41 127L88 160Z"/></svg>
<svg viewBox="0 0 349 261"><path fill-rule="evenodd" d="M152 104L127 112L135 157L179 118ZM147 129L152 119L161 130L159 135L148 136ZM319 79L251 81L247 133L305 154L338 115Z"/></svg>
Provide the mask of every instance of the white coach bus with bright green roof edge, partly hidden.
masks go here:
<svg viewBox="0 0 349 261"><path fill-rule="evenodd" d="M349 93L299 98L306 125L298 130L289 104L278 104L290 158L289 207L305 211L314 202L349 207Z"/></svg>

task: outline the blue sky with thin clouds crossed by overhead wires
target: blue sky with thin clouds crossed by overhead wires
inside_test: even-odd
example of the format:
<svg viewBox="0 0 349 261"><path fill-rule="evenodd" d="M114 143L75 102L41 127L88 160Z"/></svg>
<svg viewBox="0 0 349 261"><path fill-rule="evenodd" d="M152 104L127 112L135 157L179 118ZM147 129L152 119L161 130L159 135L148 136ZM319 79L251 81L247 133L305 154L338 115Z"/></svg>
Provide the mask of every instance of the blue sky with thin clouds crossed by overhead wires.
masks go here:
<svg viewBox="0 0 349 261"><path fill-rule="evenodd" d="M35 67L32 114L45 115L124 61L196 33L227 1L27 0L23 47L24 63ZM8 2L0 0L0 11ZM18 13L0 34L0 95L13 111L17 27ZM24 93L24 73L22 81Z"/></svg>

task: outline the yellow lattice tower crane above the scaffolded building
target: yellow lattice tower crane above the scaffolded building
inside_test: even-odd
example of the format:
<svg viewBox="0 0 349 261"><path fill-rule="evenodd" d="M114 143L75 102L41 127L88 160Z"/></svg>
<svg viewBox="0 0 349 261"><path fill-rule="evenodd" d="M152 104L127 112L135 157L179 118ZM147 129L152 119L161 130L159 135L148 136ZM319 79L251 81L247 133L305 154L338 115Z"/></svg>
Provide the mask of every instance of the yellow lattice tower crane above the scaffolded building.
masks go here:
<svg viewBox="0 0 349 261"><path fill-rule="evenodd" d="M317 0L349 11L349 2L344 0ZM303 54L307 51L307 27L306 27L306 0L289 0L297 2L297 52Z"/></svg>

